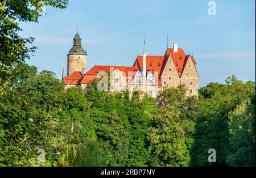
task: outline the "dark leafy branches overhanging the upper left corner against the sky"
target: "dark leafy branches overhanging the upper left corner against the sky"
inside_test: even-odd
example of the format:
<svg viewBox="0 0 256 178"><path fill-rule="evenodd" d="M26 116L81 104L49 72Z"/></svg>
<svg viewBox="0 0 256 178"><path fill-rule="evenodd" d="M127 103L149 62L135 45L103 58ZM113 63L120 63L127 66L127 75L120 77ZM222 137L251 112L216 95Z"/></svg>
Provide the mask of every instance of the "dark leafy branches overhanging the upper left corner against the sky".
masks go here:
<svg viewBox="0 0 256 178"><path fill-rule="evenodd" d="M12 74L12 70L19 63L29 59L36 49L28 48L34 38L19 36L19 21L38 22L38 10L42 5L63 9L68 1L54 0L1 0L0 1L0 87ZM0 88L1 89L1 88ZM0 90L1 92L1 90Z"/></svg>

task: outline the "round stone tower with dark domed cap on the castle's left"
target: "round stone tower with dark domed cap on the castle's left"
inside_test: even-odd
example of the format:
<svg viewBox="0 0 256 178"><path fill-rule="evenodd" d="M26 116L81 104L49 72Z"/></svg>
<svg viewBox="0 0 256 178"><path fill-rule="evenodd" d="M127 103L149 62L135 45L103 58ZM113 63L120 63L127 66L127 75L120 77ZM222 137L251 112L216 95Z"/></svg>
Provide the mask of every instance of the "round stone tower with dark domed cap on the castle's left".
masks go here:
<svg viewBox="0 0 256 178"><path fill-rule="evenodd" d="M82 75L86 73L87 52L82 48L81 37L79 33L73 39L73 46L68 53L68 73L72 74L74 71L81 71Z"/></svg>

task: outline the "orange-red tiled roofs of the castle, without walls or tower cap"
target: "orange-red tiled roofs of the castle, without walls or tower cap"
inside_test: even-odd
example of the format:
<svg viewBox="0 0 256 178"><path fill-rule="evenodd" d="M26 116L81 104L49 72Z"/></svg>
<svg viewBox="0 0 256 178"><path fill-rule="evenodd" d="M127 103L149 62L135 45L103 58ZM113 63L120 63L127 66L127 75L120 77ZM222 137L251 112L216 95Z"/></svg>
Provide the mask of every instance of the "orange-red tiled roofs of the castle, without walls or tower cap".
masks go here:
<svg viewBox="0 0 256 178"><path fill-rule="evenodd" d="M153 73L158 72L158 86L162 86L161 83L161 75L163 73L163 69L168 61L168 58L171 56L172 60L174 61L174 65L177 69L178 73L182 73L187 63L189 55L185 55L183 49L178 48L177 52L174 52L173 48L168 48L164 56L146 56L146 71L152 71ZM195 59L191 56L192 61L196 64ZM134 62L132 67L129 66L103 66L103 65L95 65L89 71L86 72L84 78L82 77L81 72L75 71L71 75L64 77L65 84L88 84L92 82L94 78L97 78L97 74L100 71L110 71L118 67L120 71L123 71L126 77L129 75L129 72L134 73L135 71L142 70L143 65L143 56L138 56ZM157 76L155 76L157 77ZM75 82L75 83L74 83Z"/></svg>

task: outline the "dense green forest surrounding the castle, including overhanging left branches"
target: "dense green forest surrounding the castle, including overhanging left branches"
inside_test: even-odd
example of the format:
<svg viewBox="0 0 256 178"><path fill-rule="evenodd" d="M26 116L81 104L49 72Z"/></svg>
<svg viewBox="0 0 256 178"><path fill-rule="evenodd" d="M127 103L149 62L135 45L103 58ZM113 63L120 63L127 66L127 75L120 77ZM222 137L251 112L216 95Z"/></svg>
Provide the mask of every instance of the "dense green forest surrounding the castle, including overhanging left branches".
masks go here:
<svg viewBox="0 0 256 178"><path fill-rule="evenodd" d="M96 81L64 93L54 73L24 62L35 47L16 20L38 22L36 3L0 1L0 166L255 166L255 82L233 75L199 98L183 85L130 97Z"/></svg>

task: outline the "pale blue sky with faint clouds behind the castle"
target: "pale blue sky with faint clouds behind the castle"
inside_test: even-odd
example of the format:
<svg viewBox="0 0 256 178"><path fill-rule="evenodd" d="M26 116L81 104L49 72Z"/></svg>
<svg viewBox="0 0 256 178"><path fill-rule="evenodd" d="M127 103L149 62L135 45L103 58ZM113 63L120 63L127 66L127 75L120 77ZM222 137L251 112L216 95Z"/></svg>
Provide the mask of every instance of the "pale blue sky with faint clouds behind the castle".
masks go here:
<svg viewBox="0 0 256 178"><path fill-rule="evenodd" d="M137 50L163 55L177 43L193 54L199 87L236 75L255 81L255 1L70 0L67 9L46 7L39 23L21 23L22 37L35 37L35 56L27 61L39 70L67 73L67 54L76 29L88 53L87 69L96 65L132 66Z"/></svg>

